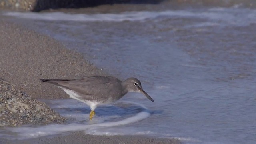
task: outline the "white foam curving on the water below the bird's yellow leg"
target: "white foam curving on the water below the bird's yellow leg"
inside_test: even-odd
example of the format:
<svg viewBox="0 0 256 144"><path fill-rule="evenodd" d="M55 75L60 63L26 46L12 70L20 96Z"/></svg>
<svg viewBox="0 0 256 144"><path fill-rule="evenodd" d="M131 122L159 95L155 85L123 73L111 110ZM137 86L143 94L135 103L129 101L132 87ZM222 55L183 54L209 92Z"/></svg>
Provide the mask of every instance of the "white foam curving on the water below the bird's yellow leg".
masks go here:
<svg viewBox="0 0 256 144"><path fill-rule="evenodd" d="M134 123L134 122L138 122L140 120L143 120L145 118L148 118L151 114L148 111L148 109L146 109L143 105L141 104L137 104L134 102L124 102L124 101L120 101L118 103L121 103L121 105L124 104L131 104L131 106L136 106L138 108L140 108L140 112L138 112L137 114L135 112L132 112L133 115L130 116L130 114L128 114L127 116L118 116L118 115L114 115L114 116L97 116L94 117L94 119L92 121L90 120L86 120L88 119L89 114L88 113L84 113L81 112L83 111L83 107L85 107L86 105L82 105L81 106L80 103L81 102L74 102L74 100L56 100L51 101L52 104L55 107L58 107L60 110L56 109L57 111L62 111L62 114L64 114L67 117L72 118L72 122L70 124L49 124L49 125L44 125L44 126L39 126L39 127L32 127L32 126L22 126L22 127L18 127L18 128L7 128L7 131L3 131L4 133L6 133L8 135L8 133L15 133L15 136L9 135L9 136L5 136L6 138L18 138L18 139L24 139L24 138L35 138L35 137L39 137L39 136L47 136L47 135L53 135L53 134L59 134L61 132L70 132L70 131L80 131L80 130L84 130L86 134L97 134L97 135L102 135L102 134L107 134L107 135L115 135L115 134L120 134L118 132L116 132L113 128L114 126L122 126L122 125L126 125L126 124L130 124L130 123ZM61 104L60 104L61 102ZM60 104L60 106L56 106L56 104ZM50 104L51 105L51 104ZM110 105L111 106L111 105ZM65 112L63 112L63 109L67 109L67 108L74 108L72 110L75 110L75 112L72 112L72 110L66 110ZM129 106L128 106L129 107ZM80 109L80 112L76 112L79 110L76 110L76 108ZM106 107L102 107L102 109L104 109ZM89 110L90 108L88 108ZM116 107L114 107L114 109L116 109ZM116 110L118 112L118 110ZM112 110L112 112L114 113L115 111ZM68 114L65 114L68 113ZM120 113L120 112L119 112ZM97 113L96 113L97 114ZM125 118L127 117L127 118ZM118 119L118 120L116 120ZM106 121L110 121L110 122L106 122ZM77 124L79 123L79 124ZM112 131L108 131L108 130L103 130L101 131L100 129L103 127L111 127ZM97 129L97 132L95 131Z"/></svg>

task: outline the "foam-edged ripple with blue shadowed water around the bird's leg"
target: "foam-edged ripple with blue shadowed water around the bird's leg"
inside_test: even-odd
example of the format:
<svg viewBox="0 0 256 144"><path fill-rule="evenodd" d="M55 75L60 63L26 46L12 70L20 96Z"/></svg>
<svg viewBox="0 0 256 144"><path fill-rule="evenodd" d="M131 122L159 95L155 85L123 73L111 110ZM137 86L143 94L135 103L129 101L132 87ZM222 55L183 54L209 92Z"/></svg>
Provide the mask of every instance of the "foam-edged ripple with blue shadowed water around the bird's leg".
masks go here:
<svg viewBox="0 0 256 144"><path fill-rule="evenodd" d="M151 115L148 109L141 104L120 101L113 105L99 106L95 110L96 116L90 121L90 108L82 102L73 99L42 101L68 118L68 124L26 125L18 128L6 128L0 131L0 136L10 139L25 139L78 130L84 130L87 134L94 134L96 129L97 134L114 135L113 132L104 131L101 133L99 130L101 127L138 122Z"/></svg>

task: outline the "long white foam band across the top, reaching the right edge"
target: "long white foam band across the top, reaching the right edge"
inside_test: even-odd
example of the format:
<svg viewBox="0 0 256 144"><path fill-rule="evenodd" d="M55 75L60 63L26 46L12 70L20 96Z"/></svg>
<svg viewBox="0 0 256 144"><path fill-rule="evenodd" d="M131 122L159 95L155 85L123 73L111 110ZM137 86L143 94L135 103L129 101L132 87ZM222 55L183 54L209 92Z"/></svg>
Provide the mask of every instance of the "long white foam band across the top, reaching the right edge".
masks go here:
<svg viewBox="0 0 256 144"><path fill-rule="evenodd" d="M207 21L196 24L186 25L187 27L195 26L216 26L239 25L244 26L256 23L256 10L238 9L238 8L210 8L204 11L193 10L166 10L166 11L138 11L138 12L121 12L119 14L68 14L63 12L6 12L7 16L15 16L18 18L36 19L36 20L63 20L63 21L80 21L80 22L96 22L96 21L142 21L147 19L155 19L158 17L187 17L187 18L203 18Z"/></svg>

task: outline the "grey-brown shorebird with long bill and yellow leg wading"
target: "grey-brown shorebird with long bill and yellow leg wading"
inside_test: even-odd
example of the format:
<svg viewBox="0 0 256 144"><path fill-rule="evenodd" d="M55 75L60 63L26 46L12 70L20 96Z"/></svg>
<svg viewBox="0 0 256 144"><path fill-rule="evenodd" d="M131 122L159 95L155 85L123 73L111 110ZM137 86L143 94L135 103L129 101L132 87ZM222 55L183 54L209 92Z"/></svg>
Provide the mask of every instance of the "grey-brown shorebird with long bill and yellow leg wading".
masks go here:
<svg viewBox="0 0 256 144"><path fill-rule="evenodd" d="M95 115L95 108L122 98L127 92L141 92L149 100L154 100L142 89L140 80L128 78L121 81L112 76L90 76L77 79L40 79L62 88L70 98L84 102L91 108L90 120Z"/></svg>

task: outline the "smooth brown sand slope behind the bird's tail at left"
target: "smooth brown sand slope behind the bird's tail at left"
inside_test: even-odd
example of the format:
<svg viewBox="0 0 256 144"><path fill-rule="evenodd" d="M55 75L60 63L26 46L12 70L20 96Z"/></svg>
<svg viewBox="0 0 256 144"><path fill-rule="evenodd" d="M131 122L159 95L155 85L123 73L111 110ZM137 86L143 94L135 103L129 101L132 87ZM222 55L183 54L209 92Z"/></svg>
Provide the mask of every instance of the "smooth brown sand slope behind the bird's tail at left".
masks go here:
<svg viewBox="0 0 256 144"><path fill-rule="evenodd" d="M77 52L47 36L0 21L0 77L37 99L68 98L62 90L39 79L101 75Z"/></svg>

